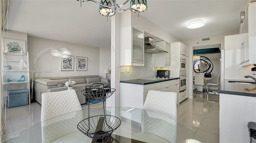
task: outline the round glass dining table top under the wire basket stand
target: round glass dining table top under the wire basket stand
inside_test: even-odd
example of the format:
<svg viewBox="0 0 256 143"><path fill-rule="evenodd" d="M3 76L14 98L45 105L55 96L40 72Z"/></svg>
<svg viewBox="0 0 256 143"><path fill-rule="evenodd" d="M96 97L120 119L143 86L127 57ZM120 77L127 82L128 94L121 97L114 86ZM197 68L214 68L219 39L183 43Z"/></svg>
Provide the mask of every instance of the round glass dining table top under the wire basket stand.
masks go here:
<svg viewBox="0 0 256 143"><path fill-rule="evenodd" d="M103 110L104 109L104 110ZM90 111L90 112L89 112ZM90 117L110 116L103 122L111 125L120 119L120 126L102 140L88 137L81 122ZM118 120L119 121L119 120ZM80 125L78 125L80 124ZM99 126L100 119L90 118L85 128ZM80 130L78 129L80 128ZM204 143L196 133L178 121L147 110L126 107L90 108L57 116L28 127L4 143L187 143L188 139ZM199 143L199 142L198 142Z"/></svg>

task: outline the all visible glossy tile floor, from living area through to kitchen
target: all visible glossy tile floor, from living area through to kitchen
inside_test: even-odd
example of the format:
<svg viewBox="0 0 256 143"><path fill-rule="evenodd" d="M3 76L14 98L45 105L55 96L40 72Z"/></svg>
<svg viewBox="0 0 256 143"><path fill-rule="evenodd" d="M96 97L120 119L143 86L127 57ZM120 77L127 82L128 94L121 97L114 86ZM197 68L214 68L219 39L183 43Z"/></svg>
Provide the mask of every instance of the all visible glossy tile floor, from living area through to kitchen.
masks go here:
<svg viewBox="0 0 256 143"><path fill-rule="evenodd" d="M210 94L209 99L218 101L219 96ZM102 104L92 106L100 107ZM2 110L2 124L4 113ZM194 99L188 98L177 105L177 117L180 123L194 131L205 143L219 143L219 104L217 102L207 102L205 95L194 94ZM7 109L6 128L2 134L2 141L22 129L39 123L40 120L41 105L37 102Z"/></svg>

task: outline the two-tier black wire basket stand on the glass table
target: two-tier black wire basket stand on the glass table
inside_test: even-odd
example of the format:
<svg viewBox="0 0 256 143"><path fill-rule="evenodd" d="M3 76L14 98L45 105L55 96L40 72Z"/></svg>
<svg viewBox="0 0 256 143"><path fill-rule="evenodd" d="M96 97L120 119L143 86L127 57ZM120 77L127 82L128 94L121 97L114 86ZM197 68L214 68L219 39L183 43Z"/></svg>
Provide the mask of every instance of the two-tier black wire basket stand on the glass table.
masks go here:
<svg viewBox="0 0 256 143"><path fill-rule="evenodd" d="M116 89L105 88L102 83L94 83L82 90L88 98L88 118L77 125L79 131L90 137L92 143L119 143L111 134L121 125L121 120L115 116L106 115L104 100L110 97ZM102 100L104 115L90 117L90 100Z"/></svg>

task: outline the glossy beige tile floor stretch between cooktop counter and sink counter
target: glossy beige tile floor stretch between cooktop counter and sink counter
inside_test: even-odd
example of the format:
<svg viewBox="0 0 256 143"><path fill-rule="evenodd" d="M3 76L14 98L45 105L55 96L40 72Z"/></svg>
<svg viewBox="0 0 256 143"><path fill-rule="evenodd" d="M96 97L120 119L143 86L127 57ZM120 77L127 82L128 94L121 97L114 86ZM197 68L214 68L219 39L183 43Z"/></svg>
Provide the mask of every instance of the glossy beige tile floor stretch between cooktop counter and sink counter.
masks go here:
<svg viewBox="0 0 256 143"><path fill-rule="evenodd" d="M205 143L219 143L219 95L194 94L193 99L186 99L177 106L177 120L190 128Z"/></svg>

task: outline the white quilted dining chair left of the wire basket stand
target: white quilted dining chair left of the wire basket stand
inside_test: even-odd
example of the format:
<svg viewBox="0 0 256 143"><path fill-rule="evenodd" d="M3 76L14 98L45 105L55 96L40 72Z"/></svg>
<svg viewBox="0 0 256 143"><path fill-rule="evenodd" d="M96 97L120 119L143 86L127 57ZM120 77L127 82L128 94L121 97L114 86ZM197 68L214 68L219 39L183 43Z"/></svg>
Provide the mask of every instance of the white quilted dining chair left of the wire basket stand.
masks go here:
<svg viewBox="0 0 256 143"><path fill-rule="evenodd" d="M77 129L82 119L82 107L74 89L42 94L43 143L68 142L70 136L82 141L84 134Z"/></svg>

